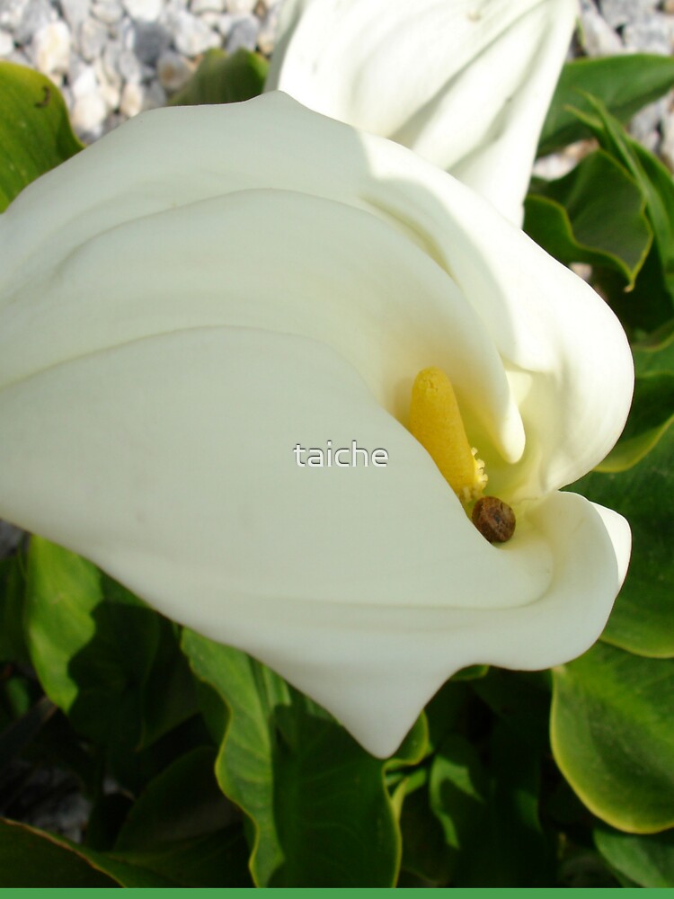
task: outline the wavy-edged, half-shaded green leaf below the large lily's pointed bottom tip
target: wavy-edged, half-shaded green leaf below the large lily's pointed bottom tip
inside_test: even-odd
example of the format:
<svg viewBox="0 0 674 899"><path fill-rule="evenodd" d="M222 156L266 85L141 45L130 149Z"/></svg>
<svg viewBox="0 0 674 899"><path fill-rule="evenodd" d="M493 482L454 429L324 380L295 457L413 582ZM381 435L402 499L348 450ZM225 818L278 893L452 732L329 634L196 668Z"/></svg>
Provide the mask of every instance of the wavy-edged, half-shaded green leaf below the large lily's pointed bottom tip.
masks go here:
<svg viewBox="0 0 674 899"><path fill-rule="evenodd" d="M191 631L183 651L229 710L217 779L252 824L256 885L393 886L400 835L386 762L246 654ZM418 725L398 759L417 761L425 744Z"/></svg>

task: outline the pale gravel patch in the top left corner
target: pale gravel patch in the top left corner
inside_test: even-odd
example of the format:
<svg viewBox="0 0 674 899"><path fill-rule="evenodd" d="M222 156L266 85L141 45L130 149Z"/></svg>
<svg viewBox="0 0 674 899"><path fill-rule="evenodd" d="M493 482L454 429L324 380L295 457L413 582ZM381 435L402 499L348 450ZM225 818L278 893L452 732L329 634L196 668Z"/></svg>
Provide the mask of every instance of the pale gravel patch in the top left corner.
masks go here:
<svg viewBox="0 0 674 899"><path fill-rule="evenodd" d="M279 0L0 0L0 58L63 91L89 142L164 106L206 50L269 55Z"/></svg>

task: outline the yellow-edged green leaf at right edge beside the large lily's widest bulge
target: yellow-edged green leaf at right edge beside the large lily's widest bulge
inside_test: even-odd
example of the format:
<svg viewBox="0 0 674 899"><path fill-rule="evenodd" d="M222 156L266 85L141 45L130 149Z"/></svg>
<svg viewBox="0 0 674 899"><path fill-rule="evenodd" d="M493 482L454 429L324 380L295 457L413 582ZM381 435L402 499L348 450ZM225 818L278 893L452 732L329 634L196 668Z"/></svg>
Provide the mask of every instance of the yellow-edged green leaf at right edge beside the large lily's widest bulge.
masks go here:
<svg viewBox="0 0 674 899"><path fill-rule="evenodd" d="M625 430L598 471L625 471L640 462L674 421L674 372L654 372L634 380L634 400Z"/></svg>

